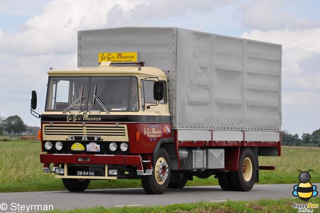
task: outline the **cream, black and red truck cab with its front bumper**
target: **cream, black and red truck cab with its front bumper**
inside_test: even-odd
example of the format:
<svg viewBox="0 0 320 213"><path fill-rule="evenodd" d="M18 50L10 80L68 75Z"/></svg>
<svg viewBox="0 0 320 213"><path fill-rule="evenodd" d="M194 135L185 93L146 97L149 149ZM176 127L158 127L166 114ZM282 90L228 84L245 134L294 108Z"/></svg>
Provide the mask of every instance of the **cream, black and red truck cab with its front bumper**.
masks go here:
<svg viewBox="0 0 320 213"><path fill-rule="evenodd" d="M153 67L51 68L40 116L44 171L71 191L92 178L150 175L150 153L171 137L166 85Z"/></svg>

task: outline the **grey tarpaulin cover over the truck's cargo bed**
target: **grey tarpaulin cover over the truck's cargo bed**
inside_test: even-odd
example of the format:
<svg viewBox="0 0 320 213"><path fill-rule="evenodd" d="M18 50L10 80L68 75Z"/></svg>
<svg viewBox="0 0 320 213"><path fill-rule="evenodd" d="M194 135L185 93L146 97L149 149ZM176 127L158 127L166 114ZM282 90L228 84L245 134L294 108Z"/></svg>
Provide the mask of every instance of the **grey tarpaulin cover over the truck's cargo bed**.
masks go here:
<svg viewBox="0 0 320 213"><path fill-rule="evenodd" d="M128 51L167 74L172 128L280 129L281 45L177 27L78 31L78 66Z"/></svg>

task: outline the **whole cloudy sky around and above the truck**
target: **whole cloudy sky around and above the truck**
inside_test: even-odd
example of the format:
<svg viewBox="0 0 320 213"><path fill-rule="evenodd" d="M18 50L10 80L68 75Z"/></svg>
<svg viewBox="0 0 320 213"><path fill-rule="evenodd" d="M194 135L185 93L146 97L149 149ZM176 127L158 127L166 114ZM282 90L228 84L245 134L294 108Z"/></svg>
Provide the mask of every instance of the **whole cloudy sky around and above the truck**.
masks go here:
<svg viewBox="0 0 320 213"><path fill-rule="evenodd" d="M0 0L0 116L29 126L49 67L77 66L77 31L176 26L282 44L282 130L320 128L319 0Z"/></svg>

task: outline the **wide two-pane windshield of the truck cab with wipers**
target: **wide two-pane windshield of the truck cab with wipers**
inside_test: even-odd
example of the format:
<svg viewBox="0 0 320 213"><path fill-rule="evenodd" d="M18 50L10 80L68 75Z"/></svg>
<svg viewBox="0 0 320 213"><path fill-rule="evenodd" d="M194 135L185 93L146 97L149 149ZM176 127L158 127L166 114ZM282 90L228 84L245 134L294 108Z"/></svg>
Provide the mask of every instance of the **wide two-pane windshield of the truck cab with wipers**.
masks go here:
<svg viewBox="0 0 320 213"><path fill-rule="evenodd" d="M45 110L137 111L135 77L49 77Z"/></svg>

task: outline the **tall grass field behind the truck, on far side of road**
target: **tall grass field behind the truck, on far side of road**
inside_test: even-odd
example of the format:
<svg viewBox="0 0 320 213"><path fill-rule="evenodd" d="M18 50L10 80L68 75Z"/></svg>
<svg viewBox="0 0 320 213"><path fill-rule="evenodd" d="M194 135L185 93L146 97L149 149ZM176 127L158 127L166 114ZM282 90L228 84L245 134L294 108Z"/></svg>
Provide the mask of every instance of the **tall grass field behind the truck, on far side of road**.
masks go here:
<svg viewBox="0 0 320 213"><path fill-rule="evenodd" d="M39 162L41 152L37 140L0 141L0 192L65 190L54 174L44 173ZM279 157L259 156L260 165L274 165L275 170L260 170L259 184L299 183L298 174L310 171L311 183L320 182L320 148L282 147ZM187 186L217 185L215 178L194 177ZM93 180L88 189L142 187L140 180Z"/></svg>

